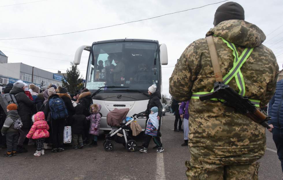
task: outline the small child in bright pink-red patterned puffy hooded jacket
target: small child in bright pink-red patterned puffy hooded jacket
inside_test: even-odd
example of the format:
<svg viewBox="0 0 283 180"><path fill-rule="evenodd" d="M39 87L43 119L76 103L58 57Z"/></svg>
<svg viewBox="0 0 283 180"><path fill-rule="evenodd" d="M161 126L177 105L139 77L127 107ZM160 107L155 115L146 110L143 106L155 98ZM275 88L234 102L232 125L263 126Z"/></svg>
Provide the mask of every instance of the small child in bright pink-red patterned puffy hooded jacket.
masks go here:
<svg viewBox="0 0 283 180"><path fill-rule="evenodd" d="M36 153L34 156L44 155L44 140L49 137L49 125L45 121L44 112L38 112L32 116L33 125L27 134L27 138L36 140Z"/></svg>

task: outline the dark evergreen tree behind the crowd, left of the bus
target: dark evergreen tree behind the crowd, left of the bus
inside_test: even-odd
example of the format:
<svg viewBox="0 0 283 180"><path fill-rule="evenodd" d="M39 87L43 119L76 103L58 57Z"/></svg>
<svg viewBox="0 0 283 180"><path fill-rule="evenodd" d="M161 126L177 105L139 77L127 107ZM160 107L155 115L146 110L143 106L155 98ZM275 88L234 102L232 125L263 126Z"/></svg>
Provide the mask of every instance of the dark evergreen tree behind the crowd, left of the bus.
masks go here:
<svg viewBox="0 0 283 180"><path fill-rule="evenodd" d="M70 63L70 70L67 69L67 76L62 79L63 87L68 89L68 92L75 93L76 90L80 90L84 87L83 79L78 66L73 62Z"/></svg>

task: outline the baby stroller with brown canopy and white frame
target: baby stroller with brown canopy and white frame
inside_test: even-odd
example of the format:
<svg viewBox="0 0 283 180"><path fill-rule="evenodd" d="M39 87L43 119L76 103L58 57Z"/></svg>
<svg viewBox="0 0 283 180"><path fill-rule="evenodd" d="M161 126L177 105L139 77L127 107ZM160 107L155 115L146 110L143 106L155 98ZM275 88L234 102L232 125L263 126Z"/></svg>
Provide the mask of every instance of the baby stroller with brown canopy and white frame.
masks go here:
<svg viewBox="0 0 283 180"><path fill-rule="evenodd" d="M107 124L112 126L112 131L105 136L103 142L105 151L112 151L114 149L113 141L123 144L128 152L136 151L137 142L129 136L131 128L128 125L136 119L137 114L134 114L131 117L126 117L128 112L129 108L115 108L107 114Z"/></svg>

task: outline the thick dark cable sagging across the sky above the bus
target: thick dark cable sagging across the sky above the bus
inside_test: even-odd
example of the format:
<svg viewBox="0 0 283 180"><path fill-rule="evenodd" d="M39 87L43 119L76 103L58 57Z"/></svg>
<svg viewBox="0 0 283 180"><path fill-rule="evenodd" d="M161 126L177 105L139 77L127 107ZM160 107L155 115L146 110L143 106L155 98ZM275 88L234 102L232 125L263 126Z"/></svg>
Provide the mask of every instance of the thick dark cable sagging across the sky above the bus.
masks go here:
<svg viewBox="0 0 283 180"><path fill-rule="evenodd" d="M228 1L228 0L225 0L225 1ZM114 25L109 25L109 26L105 26L105 27L98 27L98 28L94 28L94 29L85 29L85 30L81 30L81 31L73 31L73 32L61 33L61 34L51 34L51 35L45 35L45 36L33 36L33 37L26 37L26 38L9 38L9 39L0 39L0 40L42 38L42 37L48 37L48 36L58 36L58 35L63 35L63 34L72 34L72 33L84 32L84 31L103 29L103 28L107 28L107 27L113 27L113 26L129 24L129 23L135 23L135 22L139 22L139 21L146 21L146 20L149 20L149 19L159 18L159 17L162 17L162 16L167 16L167 15L171 15L171 14L185 12L185 11L189 11L189 10L193 10L193 9L199 9L199 8L203 8L203 7L208 6L208 5L218 4L218 3L225 2L225 1L220 1L220 2L217 2L217 3L211 3L211 4L203 5L203 6L200 6L200 7L197 7L197 8L191 8L191 9L187 9L187 10L182 10L182 11L172 12L172 13L168 13L168 14L163 14L163 15L160 15L160 16L154 16L154 17L151 17L151 18L140 19L140 20L137 20L137 21L130 21L130 22L126 22L126 23L114 24Z"/></svg>

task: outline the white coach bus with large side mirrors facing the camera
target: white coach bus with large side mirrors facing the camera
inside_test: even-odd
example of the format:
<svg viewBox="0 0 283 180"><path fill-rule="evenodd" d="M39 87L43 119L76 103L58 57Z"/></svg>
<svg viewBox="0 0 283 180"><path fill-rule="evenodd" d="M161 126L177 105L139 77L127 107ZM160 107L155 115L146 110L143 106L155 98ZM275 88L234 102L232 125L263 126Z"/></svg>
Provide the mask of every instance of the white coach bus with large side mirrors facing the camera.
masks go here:
<svg viewBox="0 0 283 180"><path fill-rule="evenodd" d="M129 108L127 116L140 114L148 104L148 87L156 84L161 91L161 64L168 63L165 44L142 39L98 41L79 47L75 64L80 64L83 50L90 52L85 88L92 92L93 103L101 105L101 130L111 130L106 123L109 111ZM142 114L137 122L144 130L146 118Z"/></svg>

